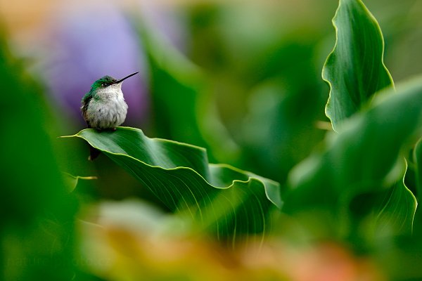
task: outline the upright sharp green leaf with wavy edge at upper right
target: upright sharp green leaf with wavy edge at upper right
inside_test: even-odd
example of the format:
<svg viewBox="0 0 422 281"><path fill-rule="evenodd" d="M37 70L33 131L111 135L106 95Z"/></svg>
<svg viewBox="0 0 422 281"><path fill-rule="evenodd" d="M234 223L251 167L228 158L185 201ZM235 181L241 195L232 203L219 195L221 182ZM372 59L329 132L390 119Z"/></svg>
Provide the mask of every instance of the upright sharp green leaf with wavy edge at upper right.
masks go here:
<svg viewBox="0 0 422 281"><path fill-rule="evenodd" d="M362 1L340 0L333 25L335 46L322 77L330 86L326 115L337 131L341 122L393 82L383 63L383 34Z"/></svg>

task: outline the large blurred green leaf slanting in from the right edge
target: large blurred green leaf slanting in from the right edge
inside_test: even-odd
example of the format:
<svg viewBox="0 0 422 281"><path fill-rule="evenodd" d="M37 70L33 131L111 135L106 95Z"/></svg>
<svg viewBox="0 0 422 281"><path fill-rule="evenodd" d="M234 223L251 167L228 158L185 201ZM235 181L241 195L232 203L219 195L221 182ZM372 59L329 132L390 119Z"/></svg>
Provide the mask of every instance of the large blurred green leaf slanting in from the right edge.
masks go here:
<svg viewBox="0 0 422 281"><path fill-rule="evenodd" d="M366 194L395 188L383 206L384 214L395 214L392 225L405 221L411 229L416 202L399 181L403 172L401 150L422 131L422 79L409 81L380 93L373 107L348 120L338 134L332 133L326 149L307 159L290 174L290 194L284 197L284 210L290 214L321 214L321 228L340 233L354 231L351 202L360 196L358 211L362 219L375 198ZM398 171L400 171L398 169ZM403 171L403 170L402 170ZM396 192L397 191L397 192ZM407 194L409 193L409 194Z"/></svg>

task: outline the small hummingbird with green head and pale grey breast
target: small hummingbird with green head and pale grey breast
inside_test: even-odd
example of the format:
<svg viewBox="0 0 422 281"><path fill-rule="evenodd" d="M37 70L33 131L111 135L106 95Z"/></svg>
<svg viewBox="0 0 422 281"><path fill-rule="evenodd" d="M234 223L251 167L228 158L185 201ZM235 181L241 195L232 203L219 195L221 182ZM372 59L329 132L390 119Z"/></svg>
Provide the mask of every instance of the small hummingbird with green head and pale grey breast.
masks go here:
<svg viewBox="0 0 422 281"><path fill-rule="evenodd" d="M124 101L122 82L137 74L122 79L104 76L91 85L91 90L82 98L82 117L89 128L98 131L120 126L126 119L127 103Z"/></svg>

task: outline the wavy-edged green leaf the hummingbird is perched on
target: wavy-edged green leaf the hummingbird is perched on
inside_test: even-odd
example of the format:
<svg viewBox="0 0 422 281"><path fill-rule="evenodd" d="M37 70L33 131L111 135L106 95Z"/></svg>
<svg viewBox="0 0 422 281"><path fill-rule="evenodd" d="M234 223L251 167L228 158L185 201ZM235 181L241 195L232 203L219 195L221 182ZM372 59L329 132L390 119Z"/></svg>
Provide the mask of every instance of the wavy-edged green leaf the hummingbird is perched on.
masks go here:
<svg viewBox="0 0 422 281"><path fill-rule="evenodd" d="M266 233L281 207L279 184L228 165L209 164L193 145L148 138L139 129L85 129L75 136L126 169L172 211L190 214L217 237Z"/></svg>

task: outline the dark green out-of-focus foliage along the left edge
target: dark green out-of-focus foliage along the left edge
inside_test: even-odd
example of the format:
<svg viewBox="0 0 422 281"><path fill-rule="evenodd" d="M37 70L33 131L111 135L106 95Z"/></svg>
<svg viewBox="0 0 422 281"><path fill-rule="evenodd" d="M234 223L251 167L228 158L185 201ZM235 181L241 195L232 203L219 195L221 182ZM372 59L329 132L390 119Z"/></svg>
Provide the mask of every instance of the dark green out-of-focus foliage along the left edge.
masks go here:
<svg viewBox="0 0 422 281"><path fill-rule="evenodd" d="M0 279L71 280L77 202L58 169L51 105L3 33L0 85Z"/></svg>

